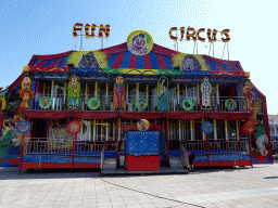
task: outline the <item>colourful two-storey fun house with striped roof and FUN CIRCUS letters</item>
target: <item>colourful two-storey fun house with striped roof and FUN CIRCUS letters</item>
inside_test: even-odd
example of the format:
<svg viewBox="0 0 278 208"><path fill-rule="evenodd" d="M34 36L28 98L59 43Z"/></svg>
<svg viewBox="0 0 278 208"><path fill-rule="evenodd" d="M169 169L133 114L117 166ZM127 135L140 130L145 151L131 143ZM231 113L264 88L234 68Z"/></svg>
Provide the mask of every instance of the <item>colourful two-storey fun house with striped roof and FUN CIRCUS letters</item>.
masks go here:
<svg viewBox="0 0 278 208"><path fill-rule="evenodd" d="M83 28L94 37L88 24L74 37ZM179 30L216 41L216 29ZM182 169L186 152L194 167L273 164L266 98L240 62L170 50L144 30L101 50L33 55L0 95L1 167L160 172Z"/></svg>

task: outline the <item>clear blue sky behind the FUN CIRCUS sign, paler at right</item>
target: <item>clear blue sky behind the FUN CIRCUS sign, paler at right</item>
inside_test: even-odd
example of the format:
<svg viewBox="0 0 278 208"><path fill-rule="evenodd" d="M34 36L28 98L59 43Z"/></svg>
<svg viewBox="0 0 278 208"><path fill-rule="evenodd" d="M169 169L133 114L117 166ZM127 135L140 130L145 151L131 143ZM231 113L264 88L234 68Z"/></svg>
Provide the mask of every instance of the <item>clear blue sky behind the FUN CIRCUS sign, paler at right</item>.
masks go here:
<svg viewBox="0 0 278 208"><path fill-rule="evenodd" d="M277 5L275 0L0 0L0 87L11 84L33 54L79 50L79 38L73 38L77 22L110 24L105 48L126 42L136 29L174 49L170 27L229 28L230 60L240 61L251 73L251 80L267 98L268 114L277 114ZM199 54L208 54L207 46L199 42ZM100 47L98 38L84 40L84 50ZM222 58L223 49L224 43L216 42L215 57ZM193 53L193 42L179 42L179 51Z"/></svg>

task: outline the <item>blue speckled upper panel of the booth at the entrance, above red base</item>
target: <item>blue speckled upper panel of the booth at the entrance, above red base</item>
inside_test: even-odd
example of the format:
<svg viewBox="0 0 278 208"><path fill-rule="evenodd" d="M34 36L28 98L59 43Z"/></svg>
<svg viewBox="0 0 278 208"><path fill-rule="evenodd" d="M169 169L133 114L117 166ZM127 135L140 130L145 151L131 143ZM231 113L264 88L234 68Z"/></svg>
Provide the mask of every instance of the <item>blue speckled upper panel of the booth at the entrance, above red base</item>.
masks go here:
<svg viewBox="0 0 278 208"><path fill-rule="evenodd" d="M126 154L134 156L160 155L159 131L128 131Z"/></svg>

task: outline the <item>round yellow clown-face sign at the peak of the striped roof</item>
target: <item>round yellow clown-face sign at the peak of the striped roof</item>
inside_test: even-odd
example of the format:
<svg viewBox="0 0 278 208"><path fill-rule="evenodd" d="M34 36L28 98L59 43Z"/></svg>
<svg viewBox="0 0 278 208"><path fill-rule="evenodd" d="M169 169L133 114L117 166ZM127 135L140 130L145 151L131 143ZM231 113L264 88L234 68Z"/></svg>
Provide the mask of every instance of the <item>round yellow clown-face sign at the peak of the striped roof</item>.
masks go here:
<svg viewBox="0 0 278 208"><path fill-rule="evenodd" d="M135 55L146 55L152 51L152 36L144 30L135 30L127 38L127 48Z"/></svg>

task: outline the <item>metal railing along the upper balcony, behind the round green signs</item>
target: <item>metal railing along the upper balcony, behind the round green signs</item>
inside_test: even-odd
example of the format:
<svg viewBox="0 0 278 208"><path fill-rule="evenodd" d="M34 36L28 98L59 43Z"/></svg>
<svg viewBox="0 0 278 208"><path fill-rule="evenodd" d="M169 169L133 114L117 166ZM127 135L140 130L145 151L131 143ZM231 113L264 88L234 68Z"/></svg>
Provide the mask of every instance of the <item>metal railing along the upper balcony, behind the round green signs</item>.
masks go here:
<svg viewBox="0 0 278 208"><path fill-rule="evenodd" d="M48 108L39 107L39 99L42 95L36 96L34 100L33 107L29 109L41 109L41 110L68 110L68 98L67 95L55 95L46 94L52 101L52 104ZM75 110L99 110L99 112L114 112L113 106L113 95L98 95L100 105L96 109L90 109L87 102L92 95L83 94L78 99L79 107ZM157 96L147 96L147 95L128 95L125 98L124 112L139 112L136 106L137 99L144 99L148 101L147 107L142 112L159 112L157 109ZM185 99L190 99L193 105L187 109L182 107L182 101ZM229 106L227 101L230 100L233 107ZM185 95L174 95L168 99L169 110L168 112L248 112L247 102L244 96L212 96L211 98L211 108L202 108L200 98L198 96L185 96Z"/></svg>

